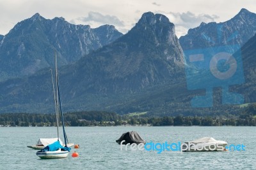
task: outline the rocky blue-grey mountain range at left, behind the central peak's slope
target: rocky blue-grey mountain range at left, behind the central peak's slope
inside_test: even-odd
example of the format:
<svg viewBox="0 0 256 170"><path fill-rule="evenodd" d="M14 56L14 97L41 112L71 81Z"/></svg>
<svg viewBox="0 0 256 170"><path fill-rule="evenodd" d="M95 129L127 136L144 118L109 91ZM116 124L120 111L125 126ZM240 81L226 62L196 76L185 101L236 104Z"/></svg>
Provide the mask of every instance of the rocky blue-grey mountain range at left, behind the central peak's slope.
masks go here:
<svg viewBox="0 0 256 170"><path fill-rule="evenodd" d="M53 66L54 52L67 65L122 36L114 26L70 24L62 17L44 19L39 13L16 24L0 36L0 81L31 75Z"/></svg>

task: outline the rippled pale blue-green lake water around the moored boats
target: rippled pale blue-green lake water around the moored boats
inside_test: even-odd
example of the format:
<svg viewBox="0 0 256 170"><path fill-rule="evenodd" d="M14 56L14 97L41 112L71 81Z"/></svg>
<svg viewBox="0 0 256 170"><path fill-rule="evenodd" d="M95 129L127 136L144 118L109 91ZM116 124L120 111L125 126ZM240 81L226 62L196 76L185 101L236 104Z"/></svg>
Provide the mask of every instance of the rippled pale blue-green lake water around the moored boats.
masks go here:
<svg viewBox="0 0 256 170"><path fill-rule="evenodd" d="M136 131L146 142L177 143L214 137L244 144L245 151L180 152L120 150L115 142ZM67 127L70 143L79 149L67 158L44 160L27 145L56 137L56 127L0 127L0 169L256 169L256 127ZM77 151L79 157L73 158Z"/></svg>

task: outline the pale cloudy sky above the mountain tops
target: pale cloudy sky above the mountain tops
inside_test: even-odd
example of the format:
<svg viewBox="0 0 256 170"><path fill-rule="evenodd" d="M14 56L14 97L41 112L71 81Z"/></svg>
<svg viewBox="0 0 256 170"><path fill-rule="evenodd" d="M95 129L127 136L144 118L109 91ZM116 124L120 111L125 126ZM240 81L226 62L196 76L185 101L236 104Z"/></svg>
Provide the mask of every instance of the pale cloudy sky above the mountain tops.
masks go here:
<svg viewBox="0 0 256 170"><path fill-rule="evenodd" d="M111 24L127 33L145 12L166 15L178 37L201 22L225 22L242 8L256 13L255 0L0 0L0 35L18 22L40 13L45 19L63 17L72 24Z"/></svg>

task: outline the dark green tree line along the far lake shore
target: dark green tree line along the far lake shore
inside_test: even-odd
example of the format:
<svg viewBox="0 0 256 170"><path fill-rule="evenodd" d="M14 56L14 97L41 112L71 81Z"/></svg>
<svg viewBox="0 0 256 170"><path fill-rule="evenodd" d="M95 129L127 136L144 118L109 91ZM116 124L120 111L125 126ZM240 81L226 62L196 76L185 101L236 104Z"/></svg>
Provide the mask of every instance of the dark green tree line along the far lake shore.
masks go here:
<svg viewBox="0 0 256 170"><path fill-rule="evenodd" d="M65 126L256 126L256 107L250 107L237 116L159 116L147 114L116 114L104 111L65 113ZM249 111L248 111L249 110ZM0 114L1 127L53 127L56 114L6 113Z"/></svg>

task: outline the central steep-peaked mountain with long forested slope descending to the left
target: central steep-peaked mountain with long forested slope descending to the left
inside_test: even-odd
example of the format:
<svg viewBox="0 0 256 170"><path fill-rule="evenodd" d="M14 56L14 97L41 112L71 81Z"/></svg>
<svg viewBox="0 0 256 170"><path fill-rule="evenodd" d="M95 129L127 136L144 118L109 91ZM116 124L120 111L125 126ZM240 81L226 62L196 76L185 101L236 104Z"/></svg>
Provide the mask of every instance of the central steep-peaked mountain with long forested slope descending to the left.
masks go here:
<svg viewBox="0 0 256 170"><path fill-rule="evenodd" d="M63 104L67 104L63 107L70 111L79 103L80 107L76 109L111 109L118 101L140 97L148 88L177 81L180 79L177 75L184 77L181 63L182 49L174 25L164 15L145 13L129 33L115 42L76 63L60 67L61 97ZM52 96L49 76L50 72L45 68L25 80L1 83L2 97L10 97L13 101L2 100L2 111L4 108L17 111L28 107L36 111L40 105L42 109L42 105L48 104L44 107L47 111ZM99 103L91 105L95 100Z"/></svg>

